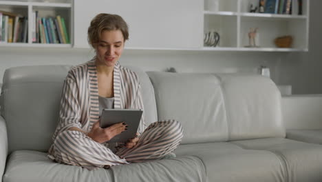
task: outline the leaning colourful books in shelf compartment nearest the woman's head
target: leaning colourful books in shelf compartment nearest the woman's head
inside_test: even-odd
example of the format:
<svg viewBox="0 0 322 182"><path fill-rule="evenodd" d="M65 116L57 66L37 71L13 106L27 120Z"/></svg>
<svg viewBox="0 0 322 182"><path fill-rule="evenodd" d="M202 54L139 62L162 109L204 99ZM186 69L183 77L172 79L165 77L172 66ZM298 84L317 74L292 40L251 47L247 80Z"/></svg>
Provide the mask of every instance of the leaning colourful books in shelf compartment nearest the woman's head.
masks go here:
<svg viewBox="0 0 322 182"><path fill-rule="evenodd" d="M39 17L38 11L33 12L32 17L33 43L70 43L63 17Z"/></svg>

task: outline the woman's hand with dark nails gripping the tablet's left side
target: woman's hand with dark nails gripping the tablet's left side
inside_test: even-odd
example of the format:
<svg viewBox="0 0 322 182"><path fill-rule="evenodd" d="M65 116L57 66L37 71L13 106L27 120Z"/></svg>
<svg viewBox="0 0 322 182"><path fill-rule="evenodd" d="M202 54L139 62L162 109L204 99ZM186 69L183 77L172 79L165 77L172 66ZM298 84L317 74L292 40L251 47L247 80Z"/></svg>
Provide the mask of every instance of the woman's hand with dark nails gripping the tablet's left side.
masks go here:
<svg viewBox="0 0 322 182"><path fill-rule="evenodd" d="M127 130L125 123L117 123L109 128L100 128L100 121L97 121L94 123L92 130L87 133L87 136L98 143L104 143L125 130Z"/></svg>

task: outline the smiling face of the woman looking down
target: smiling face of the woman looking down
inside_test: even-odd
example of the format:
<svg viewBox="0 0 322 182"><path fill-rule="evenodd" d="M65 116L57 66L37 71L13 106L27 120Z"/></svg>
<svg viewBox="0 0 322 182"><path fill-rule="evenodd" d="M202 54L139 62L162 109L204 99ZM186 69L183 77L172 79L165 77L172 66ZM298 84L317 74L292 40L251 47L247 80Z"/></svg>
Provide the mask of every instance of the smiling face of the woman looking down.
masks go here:
<svg viewBox="0 0 322 182"><path fill-rule="evenodd" d="M115 65L124 49L124 37L120 30L103 30L100 41L96 43L96 64Z"/></svg>

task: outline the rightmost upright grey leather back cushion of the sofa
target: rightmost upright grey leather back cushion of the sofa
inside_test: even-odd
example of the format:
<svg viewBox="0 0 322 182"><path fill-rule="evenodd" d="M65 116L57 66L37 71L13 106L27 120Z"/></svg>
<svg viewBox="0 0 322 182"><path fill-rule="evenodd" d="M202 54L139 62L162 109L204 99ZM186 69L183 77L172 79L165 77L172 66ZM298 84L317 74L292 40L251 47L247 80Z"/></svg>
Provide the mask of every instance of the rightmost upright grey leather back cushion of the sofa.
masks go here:
<svg viewBox="0 0 322 182"><path fill-rule="evenodd" d="M256 74L216 74L222 81L229 140L285 137L281 94Z"/></svg>

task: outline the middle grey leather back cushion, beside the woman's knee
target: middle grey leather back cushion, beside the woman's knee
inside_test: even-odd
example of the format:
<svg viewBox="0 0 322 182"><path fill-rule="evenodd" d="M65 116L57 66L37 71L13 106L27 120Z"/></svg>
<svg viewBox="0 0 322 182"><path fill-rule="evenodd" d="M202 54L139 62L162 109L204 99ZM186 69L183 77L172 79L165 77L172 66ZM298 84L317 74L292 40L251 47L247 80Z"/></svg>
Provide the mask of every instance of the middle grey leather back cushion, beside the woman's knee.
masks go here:
<svg viewBox="0 0 322 182"><path fill-rule="evenodd" d="M227 141L220 81L213 74L147 72L155 89L158 119L184 128L182 143Z"/></svg>

